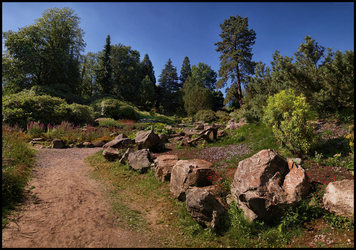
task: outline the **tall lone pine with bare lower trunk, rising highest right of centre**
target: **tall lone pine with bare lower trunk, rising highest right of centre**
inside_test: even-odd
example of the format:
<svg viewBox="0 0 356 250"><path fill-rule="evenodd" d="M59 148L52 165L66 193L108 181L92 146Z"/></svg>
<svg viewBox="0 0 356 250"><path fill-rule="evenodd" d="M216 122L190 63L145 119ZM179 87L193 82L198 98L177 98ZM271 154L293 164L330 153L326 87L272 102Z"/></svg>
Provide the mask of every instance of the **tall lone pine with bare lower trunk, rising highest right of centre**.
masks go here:
<svg viewBox="0 0 356 250"><path fill-rule="evenodd" d="M256 63L251 61L252 48L255 44L256 32L248 29L248 17L230 16L220 24L222 41L215 43L217 52L221 53L219 77L216 87L224 87L227 80L237 89L237 99L242 106L241 83L252 75ZM231 86L233 87L233 86Z"/></svg>

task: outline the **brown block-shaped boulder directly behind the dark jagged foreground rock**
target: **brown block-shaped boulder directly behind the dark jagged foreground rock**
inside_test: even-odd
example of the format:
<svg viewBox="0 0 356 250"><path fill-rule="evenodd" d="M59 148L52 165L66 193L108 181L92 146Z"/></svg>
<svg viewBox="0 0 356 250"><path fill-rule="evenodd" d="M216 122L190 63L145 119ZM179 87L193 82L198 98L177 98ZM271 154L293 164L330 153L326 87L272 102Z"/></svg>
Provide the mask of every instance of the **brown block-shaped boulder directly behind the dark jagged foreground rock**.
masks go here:
<svg viewBox="0 0 356 250"><path fill-rule="evenodd" d="M184 199L185 191L190 186L209 186L209 176L214 172L211 162L200 159L179 160L173 167L169 190L176 198Z"/></svg>

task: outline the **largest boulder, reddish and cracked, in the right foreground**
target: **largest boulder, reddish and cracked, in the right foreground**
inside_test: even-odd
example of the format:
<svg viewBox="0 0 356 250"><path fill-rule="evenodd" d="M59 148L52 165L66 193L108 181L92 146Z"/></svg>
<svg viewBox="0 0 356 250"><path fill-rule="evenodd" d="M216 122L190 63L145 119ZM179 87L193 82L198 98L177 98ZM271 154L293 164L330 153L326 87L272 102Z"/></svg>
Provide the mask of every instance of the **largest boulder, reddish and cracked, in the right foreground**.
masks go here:
<svg viewBox="0 0 356 250"><path fill-rule="evenodd" d="M303 168L268 149L240 161L231 193L252 221L271 219L277 211L296 205L309 187Z"/></svg>

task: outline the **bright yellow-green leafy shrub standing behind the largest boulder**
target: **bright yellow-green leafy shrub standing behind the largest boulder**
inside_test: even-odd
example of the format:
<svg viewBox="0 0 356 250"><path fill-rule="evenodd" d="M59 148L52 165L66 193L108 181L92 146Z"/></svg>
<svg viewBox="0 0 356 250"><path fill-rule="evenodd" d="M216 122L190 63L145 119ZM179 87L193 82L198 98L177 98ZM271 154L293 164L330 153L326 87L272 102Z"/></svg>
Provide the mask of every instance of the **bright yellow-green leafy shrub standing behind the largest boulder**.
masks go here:
<svg viewBox="0 0 356 250"><path fill-rule="evenodd" d="M282 90L268 98L263 120L271 127L277 140L285 147L290 143L293 152L300 155L310 152L316 145L317 137L309 121L313 112L305 97L295 97L294 91Z"/></svg>

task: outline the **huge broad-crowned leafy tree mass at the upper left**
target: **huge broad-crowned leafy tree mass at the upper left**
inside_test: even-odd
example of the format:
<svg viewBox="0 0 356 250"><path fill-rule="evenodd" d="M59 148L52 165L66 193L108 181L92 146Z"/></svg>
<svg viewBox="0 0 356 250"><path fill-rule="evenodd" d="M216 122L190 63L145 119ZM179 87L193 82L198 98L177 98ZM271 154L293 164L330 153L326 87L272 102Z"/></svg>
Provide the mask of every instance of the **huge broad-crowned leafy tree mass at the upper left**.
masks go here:
<svg viewBox="0 0 356 250"><path fill-rule="evenodd" d="M67 84L78 92L80 53L84 31L74 10L49 8L35 24L2 33L6 47L3 64L5 93L34 85ZM10 92L9 92L10 91Z"/></svg>

